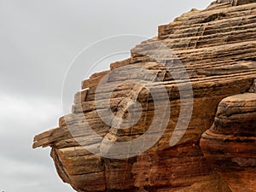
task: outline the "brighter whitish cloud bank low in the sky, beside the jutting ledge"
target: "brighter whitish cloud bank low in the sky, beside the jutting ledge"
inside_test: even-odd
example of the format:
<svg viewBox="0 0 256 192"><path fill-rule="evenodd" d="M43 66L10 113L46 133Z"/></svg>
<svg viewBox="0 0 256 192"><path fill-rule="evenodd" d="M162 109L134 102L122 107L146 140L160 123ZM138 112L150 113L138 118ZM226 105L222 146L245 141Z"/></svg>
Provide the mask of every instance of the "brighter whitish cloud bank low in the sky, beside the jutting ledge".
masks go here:
<svg viewBox="0 0 256 192"><path fill-rule="evenodd" d="M4 191L73 191L57 177L49 149L32 150L32 137L56 125L61 102L0 94L0 187ZM60 184L58 186L58 183Z"/></svg>

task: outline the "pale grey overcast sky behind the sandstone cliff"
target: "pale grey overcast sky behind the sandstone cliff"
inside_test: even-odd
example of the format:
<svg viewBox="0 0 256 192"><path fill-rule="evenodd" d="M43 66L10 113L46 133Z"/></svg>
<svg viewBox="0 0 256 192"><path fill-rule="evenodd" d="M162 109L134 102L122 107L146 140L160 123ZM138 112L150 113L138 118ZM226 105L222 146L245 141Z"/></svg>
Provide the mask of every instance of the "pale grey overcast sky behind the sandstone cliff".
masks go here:
<svg viewBox="0 0 256 192"><path fill-rule="evenodd" d="M88 50L90 56L107 56L108 46L115 47L110 49L113 53L129 51L142 37L154 37L157 26L192 8L204 9L210 2L0 0L0 191L73 191L57 176L49 148L32 150L32 138L57 125L62 115L62 84L82 49L119 36L96 44ZM82 61L84 68L79 71L86 77L95 61L86 57ZM95 70L105 68L98 65ZM69 76L74 79L67 84L73 86L66 91L64 105L71 108L83 78L76 70Z"/></svg>

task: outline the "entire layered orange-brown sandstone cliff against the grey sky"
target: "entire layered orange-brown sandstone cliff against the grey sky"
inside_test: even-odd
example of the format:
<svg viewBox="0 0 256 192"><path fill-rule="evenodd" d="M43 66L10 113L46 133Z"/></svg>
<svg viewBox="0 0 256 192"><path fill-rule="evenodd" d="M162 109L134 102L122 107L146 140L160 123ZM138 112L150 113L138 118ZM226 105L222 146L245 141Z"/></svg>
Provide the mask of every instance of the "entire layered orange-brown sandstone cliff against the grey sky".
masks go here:
<svg viewBox="0 0 256 192"><path fill-rule="evenodd" d="M256 1L218 0L160 26L33 148L79 192L256 191L255 21Z"/></svg>

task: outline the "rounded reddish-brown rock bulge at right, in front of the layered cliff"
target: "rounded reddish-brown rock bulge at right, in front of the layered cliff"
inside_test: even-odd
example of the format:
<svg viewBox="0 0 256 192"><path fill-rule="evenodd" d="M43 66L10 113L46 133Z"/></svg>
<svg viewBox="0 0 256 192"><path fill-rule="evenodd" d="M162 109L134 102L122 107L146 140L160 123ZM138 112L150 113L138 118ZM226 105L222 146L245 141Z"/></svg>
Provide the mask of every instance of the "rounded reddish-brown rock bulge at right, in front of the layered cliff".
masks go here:
<svg viewBox="0 0 256 192"><path fill-rule="evenodd" d="M225 98L201 148L232 191L256 189L256 93ZM253 168L254 167L254 168Z"/></svg>

